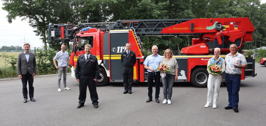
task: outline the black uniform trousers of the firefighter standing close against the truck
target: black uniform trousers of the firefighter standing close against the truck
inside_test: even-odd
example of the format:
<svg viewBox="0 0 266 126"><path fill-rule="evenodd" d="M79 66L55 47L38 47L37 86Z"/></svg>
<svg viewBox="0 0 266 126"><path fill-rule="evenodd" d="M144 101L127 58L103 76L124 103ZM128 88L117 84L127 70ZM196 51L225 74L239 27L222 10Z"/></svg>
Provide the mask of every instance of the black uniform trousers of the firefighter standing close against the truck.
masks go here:
<svg viewBox="0 0 266 126"><path fill-rule="evenodd" d="M132 90L133 67L123 67L123 84L125 91Z"/></svg>

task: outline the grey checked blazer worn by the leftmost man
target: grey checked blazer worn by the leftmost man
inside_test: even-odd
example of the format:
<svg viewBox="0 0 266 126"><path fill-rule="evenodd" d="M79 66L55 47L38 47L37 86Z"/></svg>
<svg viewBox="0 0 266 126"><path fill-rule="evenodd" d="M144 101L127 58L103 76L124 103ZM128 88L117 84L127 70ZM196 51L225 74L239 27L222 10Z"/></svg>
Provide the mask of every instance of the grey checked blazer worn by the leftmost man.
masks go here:
<svg viewBox="0 0 266 126"><path fill-rule="evenodd" d="M24 52L20 53L17 62L18 75L25 75L29 71L30 74L37 72L36 56L34 53L29 52L29 62L27 62Z"/></svg>

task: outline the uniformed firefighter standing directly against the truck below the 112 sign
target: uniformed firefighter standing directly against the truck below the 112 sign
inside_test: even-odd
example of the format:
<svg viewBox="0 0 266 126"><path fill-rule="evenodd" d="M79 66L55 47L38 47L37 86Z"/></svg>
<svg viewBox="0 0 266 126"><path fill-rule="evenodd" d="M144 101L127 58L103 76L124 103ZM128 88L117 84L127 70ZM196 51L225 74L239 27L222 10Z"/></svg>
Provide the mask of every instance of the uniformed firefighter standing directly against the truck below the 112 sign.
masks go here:
<svg viewBox="0 0 266 126"><path fill-rule="evenodd" d="M125 47L127 48L121 54L121 63L123 65L123 84L125 93L132 93L132 81L133 81L133 66L136 63L136 54L134 51L130 50L131 44L126 43Z"/></svg>

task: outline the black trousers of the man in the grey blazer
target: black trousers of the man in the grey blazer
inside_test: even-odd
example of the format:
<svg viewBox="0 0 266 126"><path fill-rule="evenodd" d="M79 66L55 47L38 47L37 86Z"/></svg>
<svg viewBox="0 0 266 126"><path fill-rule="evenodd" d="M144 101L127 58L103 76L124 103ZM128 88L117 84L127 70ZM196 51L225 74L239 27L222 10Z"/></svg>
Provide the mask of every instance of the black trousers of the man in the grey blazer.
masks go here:
<svg viewBox="0 0 266 126"><path fill-rule="evenodd" d="M32 74L28 71L25 75L21 75L21 77L23 97L28 99L27 83L29 83L29 98L33 98L34 87Z"/></svg>

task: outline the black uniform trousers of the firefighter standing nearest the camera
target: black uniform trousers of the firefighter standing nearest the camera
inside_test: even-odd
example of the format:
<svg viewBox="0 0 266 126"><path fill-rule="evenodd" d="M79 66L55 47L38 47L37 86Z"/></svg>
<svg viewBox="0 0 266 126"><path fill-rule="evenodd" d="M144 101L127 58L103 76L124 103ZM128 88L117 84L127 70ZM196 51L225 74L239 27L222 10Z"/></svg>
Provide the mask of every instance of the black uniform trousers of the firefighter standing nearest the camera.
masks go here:
<svg viewBox="0 0 266 126"><path fill-rule="evenodd" d="M87 86L90 91L90 99L93 105L97 105L99 102L98 94L96 91L96 82L93 80L94 78L80 78L80 96L79 96L79 104L84 104L86 101L86 93L87 93Z"/></svg>

